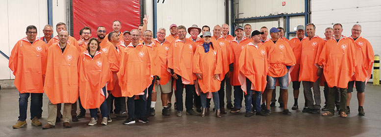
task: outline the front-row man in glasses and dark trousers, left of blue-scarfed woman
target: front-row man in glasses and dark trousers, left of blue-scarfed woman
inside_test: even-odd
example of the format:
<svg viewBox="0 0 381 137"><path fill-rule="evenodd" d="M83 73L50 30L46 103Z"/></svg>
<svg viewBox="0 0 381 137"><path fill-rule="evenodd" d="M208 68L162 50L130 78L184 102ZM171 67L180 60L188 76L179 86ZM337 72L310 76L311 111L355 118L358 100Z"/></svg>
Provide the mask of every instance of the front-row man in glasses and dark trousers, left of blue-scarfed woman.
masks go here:
<svg viewBox="0 0 381 137"><path fill-rule="evenodd" d="M196 49L193 41L186 37L186 27L178 26L178 39L172 42L168 51L168 68L176 79L177 116L182 116L182 93L185 85L185 107L187 114L197 115L193 111L192 101L194 80L196 75L192 72L193 53Z"/></svg>

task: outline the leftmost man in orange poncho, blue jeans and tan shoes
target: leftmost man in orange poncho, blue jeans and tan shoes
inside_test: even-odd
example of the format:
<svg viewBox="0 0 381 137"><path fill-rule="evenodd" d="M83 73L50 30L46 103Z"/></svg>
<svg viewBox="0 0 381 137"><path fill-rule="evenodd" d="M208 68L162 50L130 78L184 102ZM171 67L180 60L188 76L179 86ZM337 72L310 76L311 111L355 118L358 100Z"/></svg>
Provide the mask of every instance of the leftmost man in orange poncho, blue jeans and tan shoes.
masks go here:
<svg viewBox="0 0 381 137"><path fill-rule="evenodd" d="M32 125L41 126L44 77L46 72L47 50L45 42L36 38L37 28L34 25L26 27L26 37L19 40L9 57L9 68L15 75L15 87L20 92L20 116L13 128L25 127L28 98L30 96L30 119Z"/></svg>

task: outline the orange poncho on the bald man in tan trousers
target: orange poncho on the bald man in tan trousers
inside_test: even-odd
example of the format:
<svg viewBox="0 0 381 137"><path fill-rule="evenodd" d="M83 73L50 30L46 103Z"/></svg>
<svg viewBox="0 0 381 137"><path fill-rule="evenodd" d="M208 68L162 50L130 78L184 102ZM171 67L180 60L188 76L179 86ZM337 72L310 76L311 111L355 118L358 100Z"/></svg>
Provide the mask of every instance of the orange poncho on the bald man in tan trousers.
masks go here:
<svg viewBox="0 0 381 137"><path fill-rule="evenodd" d="M74 103L78 99L78 54L69 42L63 53L59 43L49 47L44 91L51 103Z"/></svg>

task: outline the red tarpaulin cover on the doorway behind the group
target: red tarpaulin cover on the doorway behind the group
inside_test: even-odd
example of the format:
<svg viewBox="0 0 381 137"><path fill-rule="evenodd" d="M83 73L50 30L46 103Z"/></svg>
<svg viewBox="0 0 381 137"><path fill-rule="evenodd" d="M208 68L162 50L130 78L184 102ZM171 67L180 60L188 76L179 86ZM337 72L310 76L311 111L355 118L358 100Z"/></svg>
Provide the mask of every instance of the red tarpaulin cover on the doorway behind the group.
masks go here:
<svg viewBox="0 0 381 137"><path fill-rule="evenodd" d="M122 23L121 32L137 28L140 24L140 0L73 0L73 31L78 40L79 30L91 28L91 37L97 37L97 27L113 31L112 23Z"/></svg>

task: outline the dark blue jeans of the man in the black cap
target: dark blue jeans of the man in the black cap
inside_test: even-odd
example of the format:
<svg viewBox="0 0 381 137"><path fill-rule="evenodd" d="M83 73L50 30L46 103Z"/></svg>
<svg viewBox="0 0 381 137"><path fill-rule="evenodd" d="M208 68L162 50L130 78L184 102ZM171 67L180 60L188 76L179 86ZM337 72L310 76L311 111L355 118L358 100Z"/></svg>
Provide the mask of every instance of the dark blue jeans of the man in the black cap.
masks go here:
<svg viewBox="0 0 381 137"><path fill-rule="evenodd" d="M252 82L246 78L246 91L247 94L245 95L245 105L246 105L246 112L251 112L252 111L252 104L253 107L255 108L256 112L260 112L260 102L262 98L262 92L261 91L255 91L255 102L252 102L253 99L253 90L252 88Z"/></svg>

